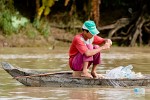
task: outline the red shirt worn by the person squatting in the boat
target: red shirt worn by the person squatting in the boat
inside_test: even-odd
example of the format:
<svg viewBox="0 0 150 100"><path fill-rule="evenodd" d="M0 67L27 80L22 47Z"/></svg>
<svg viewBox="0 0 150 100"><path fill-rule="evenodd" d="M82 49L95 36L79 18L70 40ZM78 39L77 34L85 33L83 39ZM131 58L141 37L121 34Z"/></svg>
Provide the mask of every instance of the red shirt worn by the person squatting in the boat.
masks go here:
<svg viewBox="0 0 150 100"><path fill-rule="evenodd" d="M95 35L93 37L92 44L102 44L104 42L104 39ZM81 54L84 54L87 50L87 46L83 40L82 33L76 35L72 41L72 44L70 46L69 50L69 57L74 57L78 52Z"/></svg>

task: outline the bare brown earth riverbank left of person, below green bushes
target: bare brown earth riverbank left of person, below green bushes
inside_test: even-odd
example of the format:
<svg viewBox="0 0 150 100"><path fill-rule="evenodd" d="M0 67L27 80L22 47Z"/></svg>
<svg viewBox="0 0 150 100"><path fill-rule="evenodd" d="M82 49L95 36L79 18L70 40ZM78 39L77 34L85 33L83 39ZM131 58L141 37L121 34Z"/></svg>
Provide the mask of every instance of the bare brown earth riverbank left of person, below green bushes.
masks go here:
<svg viewBox="0 0 150 100"><path fill-rule="evenodd" d="M13 34L11 36L3 36L0 34L0 47L51 47L68 45L73 39L73 34L65 30L51 27L50 35L44 37L37 35L34 38L28 37L26 34Z"/></svg>

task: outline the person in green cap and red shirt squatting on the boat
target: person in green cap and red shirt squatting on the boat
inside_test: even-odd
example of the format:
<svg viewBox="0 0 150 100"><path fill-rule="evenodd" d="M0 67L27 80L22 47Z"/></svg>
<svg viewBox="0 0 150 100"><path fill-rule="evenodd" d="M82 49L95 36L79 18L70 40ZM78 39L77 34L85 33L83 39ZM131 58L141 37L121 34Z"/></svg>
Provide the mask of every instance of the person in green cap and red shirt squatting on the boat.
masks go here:
<svg viewBox="0 0 150 100"><path fill-rule="evenodd" d="M99 33L94 21L88 20L82 26L82 33L74 37L69 50L69 65L74 71L73 77L98 77L96 67L100 64L100 52L109 49L112 45L110 39L98 36ZM91 64L93 66L89 73L88 69Z"/></svg>

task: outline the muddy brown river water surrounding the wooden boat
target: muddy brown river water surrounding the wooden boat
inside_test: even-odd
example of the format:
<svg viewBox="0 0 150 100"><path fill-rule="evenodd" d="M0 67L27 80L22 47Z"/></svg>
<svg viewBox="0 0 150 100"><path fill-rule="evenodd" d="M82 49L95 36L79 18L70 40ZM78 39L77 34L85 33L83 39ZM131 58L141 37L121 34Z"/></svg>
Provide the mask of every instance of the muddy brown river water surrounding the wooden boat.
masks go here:
<svg viewBox="0 0 150 100"><path fill-rule="evenodd" d="M68 71L68 47L0 48L0 62L9 62L21 68L39 71ZM134 72L150 73L150 48L112 47L102 52L98 73L118 66L133 65ZM149 100L150 88L145 95L135 95L134 88L64 88L26 87L6 73L0 65L0 100ZM138 87L139 88L139 87Z"/></svg>

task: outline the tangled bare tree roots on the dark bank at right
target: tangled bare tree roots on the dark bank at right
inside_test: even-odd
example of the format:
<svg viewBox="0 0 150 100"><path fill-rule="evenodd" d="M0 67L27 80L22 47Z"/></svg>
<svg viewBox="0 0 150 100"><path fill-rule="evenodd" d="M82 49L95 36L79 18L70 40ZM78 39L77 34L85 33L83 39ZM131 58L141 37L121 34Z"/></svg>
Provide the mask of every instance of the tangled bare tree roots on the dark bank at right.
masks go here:
<svg viewBox="0 0 150 100"><path fill-rule="evenodd" d="M117 41L122 46L150 45L150 1L133 0L126 2L126 5L132 5L128 8L129 17L118 19L114 24L100 29L110 30L108 38Z"/></svg>

